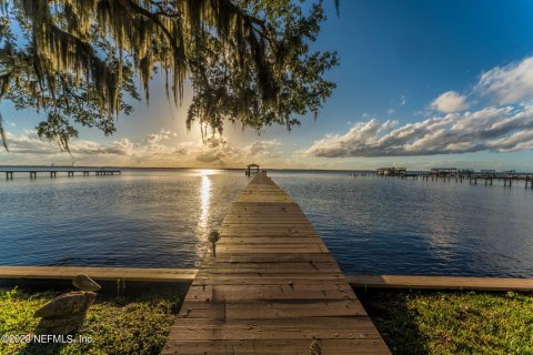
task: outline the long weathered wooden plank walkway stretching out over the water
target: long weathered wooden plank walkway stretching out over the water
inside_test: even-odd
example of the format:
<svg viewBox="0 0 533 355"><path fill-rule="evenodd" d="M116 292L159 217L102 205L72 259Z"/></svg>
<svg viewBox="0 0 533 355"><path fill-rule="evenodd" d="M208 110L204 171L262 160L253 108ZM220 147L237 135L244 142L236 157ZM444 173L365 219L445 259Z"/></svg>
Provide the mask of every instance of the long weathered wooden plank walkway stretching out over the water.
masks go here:
<svg viewBox="0 0 533 355"><path fill-rule="evenodd" d="M219 232L162 354L390 354L299 205L264 173Z"/></svg>

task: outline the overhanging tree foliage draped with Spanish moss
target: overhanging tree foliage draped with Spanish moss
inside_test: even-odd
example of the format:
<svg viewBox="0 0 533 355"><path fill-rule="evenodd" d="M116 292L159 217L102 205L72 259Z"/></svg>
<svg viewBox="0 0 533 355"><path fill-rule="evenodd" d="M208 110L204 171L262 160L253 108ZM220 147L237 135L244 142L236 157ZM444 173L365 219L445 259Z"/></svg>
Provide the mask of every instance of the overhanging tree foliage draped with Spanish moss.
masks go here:
<svg viewBox="0 0 533 355"><path fill-rule="evenodd" d="M175 103L190 78L188 126L219 132L224 122L290 129L334 88L322 75L336 54L309 52L321 2L309 16L291 0L0 2L0 100L44 110L39 133L63 150L78 134L72 123L114 132L119 112L132 111L124 94L139 99L135 77L148 103L157 69Z"/></svg>

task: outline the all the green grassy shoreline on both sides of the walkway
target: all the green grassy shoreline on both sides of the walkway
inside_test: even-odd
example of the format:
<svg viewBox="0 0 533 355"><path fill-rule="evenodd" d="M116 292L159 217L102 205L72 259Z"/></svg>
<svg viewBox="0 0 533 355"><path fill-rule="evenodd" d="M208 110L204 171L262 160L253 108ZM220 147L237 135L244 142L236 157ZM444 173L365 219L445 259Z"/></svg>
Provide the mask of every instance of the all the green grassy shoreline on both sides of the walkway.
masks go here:
<svg viewBox="0 0 533 355"><path fill-rule="evenodd" d="M355 291L393 354L533 354L533 294ZM0 343L0 354L159 354L181 306L177 294L99 301L78 332L91 344ZM31 333L33 312L57 295L0 288L0 334Z"/></svg>

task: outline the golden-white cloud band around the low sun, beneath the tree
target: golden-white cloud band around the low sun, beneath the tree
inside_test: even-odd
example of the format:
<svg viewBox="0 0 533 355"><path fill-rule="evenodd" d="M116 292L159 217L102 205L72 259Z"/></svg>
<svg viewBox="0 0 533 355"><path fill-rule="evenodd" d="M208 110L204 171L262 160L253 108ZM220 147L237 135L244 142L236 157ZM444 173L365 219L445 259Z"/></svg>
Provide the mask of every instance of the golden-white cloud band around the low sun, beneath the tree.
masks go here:
<svg viewBox="0 0 533 355"><path fill-rule="evenodd" d="M139 141L128 138L110 143L98 143L88 140L76 140L70 143L72 156L61 152L58 144L39 139L34 131L22 134L8 133L10 152L4 152L4 163L17 161L23 156L31 163L72 161L101 162L123 165L181 165L197 166L240 166L245 162L259 160L262 163L279 156L281 144L278 140L255 141L248 145L230 144L228 139L211 135L204 142L177 142L170 131L147 134Z"/></svg>

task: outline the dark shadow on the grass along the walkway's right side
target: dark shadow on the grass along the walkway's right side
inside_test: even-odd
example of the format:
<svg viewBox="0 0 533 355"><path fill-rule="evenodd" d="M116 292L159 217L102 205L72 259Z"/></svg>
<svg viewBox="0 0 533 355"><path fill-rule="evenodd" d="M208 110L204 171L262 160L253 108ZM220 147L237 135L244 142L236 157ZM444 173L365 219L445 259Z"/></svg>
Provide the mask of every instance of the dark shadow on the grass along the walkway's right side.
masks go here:
<svg viewBox="0 0 533 355"><path fill-rule="evenodd" d="M409 291L354 291L392 354L430 353L428 339L420 333L415 314L408 306Z"/></svg>

